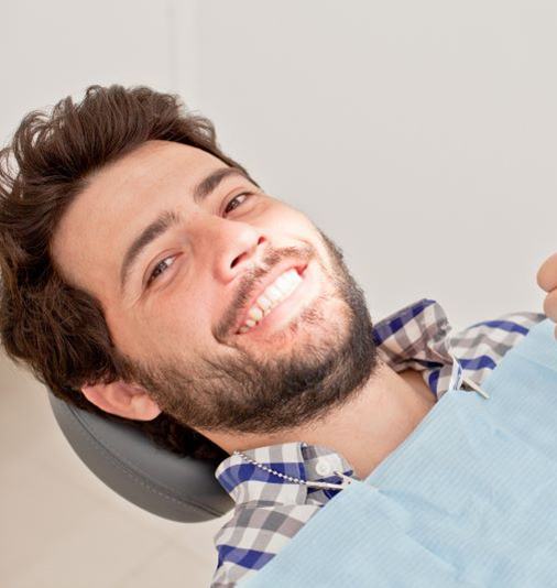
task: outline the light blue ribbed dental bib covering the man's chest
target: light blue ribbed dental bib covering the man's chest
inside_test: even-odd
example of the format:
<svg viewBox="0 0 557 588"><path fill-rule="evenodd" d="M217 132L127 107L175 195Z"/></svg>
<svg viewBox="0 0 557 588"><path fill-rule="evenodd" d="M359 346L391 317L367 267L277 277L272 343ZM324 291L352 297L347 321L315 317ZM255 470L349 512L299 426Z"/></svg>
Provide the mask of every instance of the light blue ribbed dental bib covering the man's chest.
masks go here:
<svg viewBox="0 0 557 588"><path fill-rule="evenodd" d="M557 342L549 320L477 392L450 390L364 481L242 588L557 587Z"/></svg>

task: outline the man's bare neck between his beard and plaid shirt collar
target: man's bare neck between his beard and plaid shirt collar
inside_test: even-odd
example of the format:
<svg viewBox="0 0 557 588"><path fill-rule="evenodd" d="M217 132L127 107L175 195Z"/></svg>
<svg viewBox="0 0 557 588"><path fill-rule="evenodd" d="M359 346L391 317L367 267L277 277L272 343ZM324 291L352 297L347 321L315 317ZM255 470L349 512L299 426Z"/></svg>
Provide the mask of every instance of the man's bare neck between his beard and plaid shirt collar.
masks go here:
<svg viewBox="0 0 557 588"><path fill-rule="evenodd" d="M201 433L230 454L288 442L324 445L342 455L363 479L414 431L434 403L417 372L396 373L380 363L356 398L316 423L271 435Z"/></svg>

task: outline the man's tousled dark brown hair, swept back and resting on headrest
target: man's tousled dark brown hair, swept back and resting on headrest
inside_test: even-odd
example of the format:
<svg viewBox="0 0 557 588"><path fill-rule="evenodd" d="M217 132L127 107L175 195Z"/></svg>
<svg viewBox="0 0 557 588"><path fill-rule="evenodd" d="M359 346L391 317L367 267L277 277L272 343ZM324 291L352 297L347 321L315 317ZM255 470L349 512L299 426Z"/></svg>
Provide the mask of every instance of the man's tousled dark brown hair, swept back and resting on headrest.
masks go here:
<svg viewBox="0 0 557 588"><path fill-rule="evenodd" d="M51 254L57 224L89 175L149 140L201 149L250 177L220 151L210 120L151 88L90 86L78 104L67 97L50 115L23 119L0 151L0 337L11 359L64 401L140 428L174 453L218 461L227 455L220 447L167 414L130 421L84 396L85 383L127 380L125 362L99 301L67 284Z"/></svg>

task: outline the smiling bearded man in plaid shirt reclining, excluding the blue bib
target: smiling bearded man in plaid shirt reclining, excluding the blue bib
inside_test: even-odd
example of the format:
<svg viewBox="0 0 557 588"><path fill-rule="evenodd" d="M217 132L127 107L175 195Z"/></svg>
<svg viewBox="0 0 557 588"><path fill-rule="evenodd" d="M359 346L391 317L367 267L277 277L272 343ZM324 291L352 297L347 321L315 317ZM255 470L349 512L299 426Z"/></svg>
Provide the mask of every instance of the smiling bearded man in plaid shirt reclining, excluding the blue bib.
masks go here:
<svg viewBox="0 0 557 588"><path fill-rule="evenodd" d="M2 157L6 350L66 401L215 461L237 502L215 586L368 476L455 362L473 389L544 318L452 336L423 300L373 327L340 249L226 156L208 120L148 88L31 113ZM538 280L556 317L556 257Z"/></svg>

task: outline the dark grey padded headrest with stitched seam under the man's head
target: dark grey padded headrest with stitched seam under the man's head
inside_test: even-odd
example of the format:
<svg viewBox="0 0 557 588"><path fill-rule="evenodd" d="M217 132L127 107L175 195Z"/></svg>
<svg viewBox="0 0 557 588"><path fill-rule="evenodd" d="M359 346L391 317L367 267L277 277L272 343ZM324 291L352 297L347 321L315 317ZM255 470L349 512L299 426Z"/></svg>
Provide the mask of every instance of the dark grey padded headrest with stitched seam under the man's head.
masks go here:
<svg viewBox="0 0 557 588"><path fill-rule="evenodd" d="M159 516L185 523L227 513L232 499L214 466L159 447L125 424L67 404L48 391L54 416L69 445L108 487Z"/></svg>

